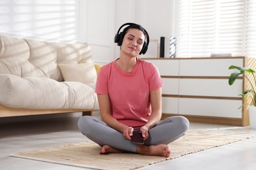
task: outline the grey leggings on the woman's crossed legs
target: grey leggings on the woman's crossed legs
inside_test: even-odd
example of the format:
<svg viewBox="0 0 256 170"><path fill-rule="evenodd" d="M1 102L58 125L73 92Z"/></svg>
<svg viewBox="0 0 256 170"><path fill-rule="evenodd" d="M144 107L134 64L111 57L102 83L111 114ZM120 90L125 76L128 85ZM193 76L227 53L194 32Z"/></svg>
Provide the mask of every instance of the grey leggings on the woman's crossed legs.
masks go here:
<svg viewBox="0 0 256 170"><path fill-rule="evenodd" d="M128 152L136 152L137 150L138 144L124 139L123 133L113 129L98 118L83 116L79 118L77 124L83 135L100 146L106 144ZM169 144L184 135L188 127L189 122L183 116L166 118L148 131L149 137L144 141L144 145Z"/></svg>

